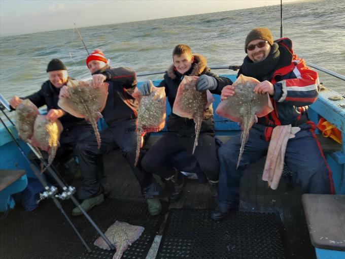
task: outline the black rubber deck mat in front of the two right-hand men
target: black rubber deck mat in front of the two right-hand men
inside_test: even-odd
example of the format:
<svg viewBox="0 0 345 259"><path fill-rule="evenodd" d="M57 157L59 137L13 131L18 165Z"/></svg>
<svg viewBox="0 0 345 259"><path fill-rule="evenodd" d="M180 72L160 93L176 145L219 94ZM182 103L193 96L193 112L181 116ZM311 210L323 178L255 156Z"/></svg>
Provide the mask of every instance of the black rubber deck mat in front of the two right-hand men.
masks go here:
<svg viewBox="0 0 345 259"><path fill-rule="evenodd" d="M219 222L209 210L170 209L156 258L285 258L276 213L231 212Z"/></svg>

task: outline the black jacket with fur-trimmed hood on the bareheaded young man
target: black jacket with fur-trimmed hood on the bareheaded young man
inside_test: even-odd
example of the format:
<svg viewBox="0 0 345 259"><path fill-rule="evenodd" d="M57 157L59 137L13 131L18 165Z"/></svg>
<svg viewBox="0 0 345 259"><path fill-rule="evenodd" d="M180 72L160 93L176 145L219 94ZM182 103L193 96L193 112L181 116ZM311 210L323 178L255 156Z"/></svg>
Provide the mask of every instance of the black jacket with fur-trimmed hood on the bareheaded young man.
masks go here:
<svg viewBox="0 0 345 259"><path fill-rule="evenodd" d="M218 75L212 73L210 71L210 68L207 67L206 59L203 56L199 54L194 54L193 56L194 63L192 64L192 67L189 71L182 75L175 69L174 64L172 64L164 74L164 79L159 84L159 86L165 87L165 94L168 98L171 110L174 106L177 89L185 75L200 76L205 74L214 77L218 82L218 86L215 90L211 90L211 92L216 94L221 94L221 90L224 88L224 86L232 84L232 81L230 79L219 77ZM194 120L180 117L172 112L167 119L166 127L168 132L174 132L179 136L195 136ZM205 110L200 133L215 133L215 122L213 118L212 105Z"/></svg>

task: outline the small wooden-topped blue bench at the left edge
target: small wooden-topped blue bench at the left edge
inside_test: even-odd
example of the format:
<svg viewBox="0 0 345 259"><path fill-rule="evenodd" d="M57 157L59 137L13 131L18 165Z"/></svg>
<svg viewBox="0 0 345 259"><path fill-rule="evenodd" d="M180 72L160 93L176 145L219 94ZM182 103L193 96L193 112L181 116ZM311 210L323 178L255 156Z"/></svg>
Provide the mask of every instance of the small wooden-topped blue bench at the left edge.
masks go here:
<svg viewBox="0 0 345 259"><path fill-rule="evenodd" d="M0 170L0 211L13 208L13 193L22 191L27 185L27 177L24 170Z"/></svg>

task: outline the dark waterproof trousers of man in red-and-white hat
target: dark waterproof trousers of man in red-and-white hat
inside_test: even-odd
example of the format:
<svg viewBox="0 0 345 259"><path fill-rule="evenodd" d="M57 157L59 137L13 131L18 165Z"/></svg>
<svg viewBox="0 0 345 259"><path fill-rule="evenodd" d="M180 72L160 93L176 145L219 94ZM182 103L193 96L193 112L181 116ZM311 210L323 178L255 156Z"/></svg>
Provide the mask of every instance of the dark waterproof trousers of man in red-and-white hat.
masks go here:
<svg viewBox="0 0 345 259"><path fill-rule="evenodd" d="M78 189L79 199L88 199L100 195L103 192L98 180L97 157L110 153L119 147L122 155L135 177L139 181L144 198L158 195L155 179L151 173L146 173L139 167L134 167L136 150L135 119L113 123L100 132L101 146L97 148L95 136L90 136L77 144L77 154L82 175L82 185ZM116 172L115 172L116 173Z"/></svg>

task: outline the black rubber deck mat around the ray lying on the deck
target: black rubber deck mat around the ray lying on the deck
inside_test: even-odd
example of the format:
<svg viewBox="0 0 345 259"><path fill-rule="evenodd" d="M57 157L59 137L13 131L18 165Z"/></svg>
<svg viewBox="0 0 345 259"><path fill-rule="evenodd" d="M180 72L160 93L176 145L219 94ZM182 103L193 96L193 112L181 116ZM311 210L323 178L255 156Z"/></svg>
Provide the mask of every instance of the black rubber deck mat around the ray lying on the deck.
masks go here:
<svg viewBox="0 0 345 259"><path fill-rule="evenodd" d="M39 208L31 212L16 208L10 211L6 219L0 220L0 257L113 258L115 251L103 250L93 245L99 235L89 221L84 216L71 216L74 204L66 201L62 207L93 250L92 253L87 253L70 224L49 200L42 202ZM163 212L166 210L167 204L163 203ZM144 226L141 237L129 246L122 258L145 258L163 221L163 212L152 217L144 202L108 198L103 204L93 208L89 215L103 233L116 220Z"/></svg>

